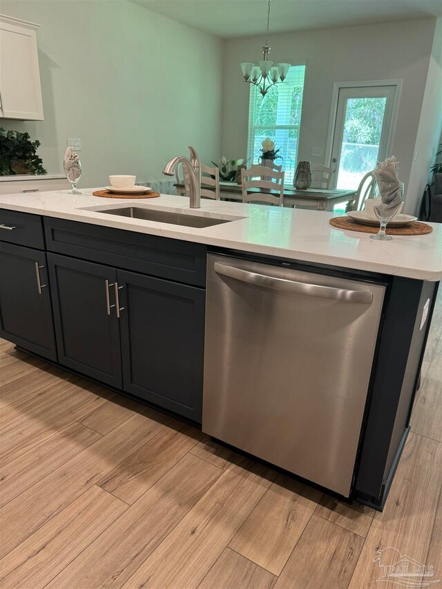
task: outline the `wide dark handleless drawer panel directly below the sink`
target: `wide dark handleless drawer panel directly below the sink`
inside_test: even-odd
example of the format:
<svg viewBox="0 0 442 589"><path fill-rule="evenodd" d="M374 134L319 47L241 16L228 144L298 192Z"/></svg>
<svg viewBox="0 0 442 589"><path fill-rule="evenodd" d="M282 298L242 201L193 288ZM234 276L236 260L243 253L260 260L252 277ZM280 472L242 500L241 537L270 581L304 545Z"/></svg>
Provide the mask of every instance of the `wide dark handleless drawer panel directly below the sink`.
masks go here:
<svg viewBox="0 0 442 589"><path fill-rule="evenodd" d="M203 287L206 246L46 217L49 251Z"/></svg>

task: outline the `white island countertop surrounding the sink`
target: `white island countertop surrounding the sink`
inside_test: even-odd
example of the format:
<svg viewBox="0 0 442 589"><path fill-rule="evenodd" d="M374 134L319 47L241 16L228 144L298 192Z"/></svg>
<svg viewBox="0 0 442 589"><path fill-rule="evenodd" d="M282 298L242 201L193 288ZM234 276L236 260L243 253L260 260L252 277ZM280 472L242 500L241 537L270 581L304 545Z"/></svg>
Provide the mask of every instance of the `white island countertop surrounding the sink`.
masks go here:
<svg viewBox="0 0 442 589"><path fill-rule="evenodd" d="M325 211L209 199L201 200L201 209L189 209L189 200L182 196L161 195L146 200L100 198L92 195L93 190L96 189L84 189L79 196L68 191L1 195L0 208L407 278L438 281L442 276L442 224L432 224L433 231L428 235L395 235L391 241L380 242L371 240L367 233L335 229L329 224L334 213ZM97 211L121 206L184 209L192 215L238 220L195 229ZM95 210L83 210L85 207Z"/></svg>

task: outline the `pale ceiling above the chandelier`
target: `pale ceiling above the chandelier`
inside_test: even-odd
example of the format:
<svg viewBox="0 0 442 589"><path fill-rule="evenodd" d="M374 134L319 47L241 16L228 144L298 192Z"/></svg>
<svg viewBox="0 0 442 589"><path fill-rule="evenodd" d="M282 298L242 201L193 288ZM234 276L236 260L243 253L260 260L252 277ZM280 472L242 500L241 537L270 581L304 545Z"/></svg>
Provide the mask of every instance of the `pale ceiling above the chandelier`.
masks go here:
<svg viewBox="0 0 442 589"><path fill-rule="evenodd" d="M265 32L267 0L131 0L217 35ZM271 32L442 16L442 0L272 0Z"/></svg>

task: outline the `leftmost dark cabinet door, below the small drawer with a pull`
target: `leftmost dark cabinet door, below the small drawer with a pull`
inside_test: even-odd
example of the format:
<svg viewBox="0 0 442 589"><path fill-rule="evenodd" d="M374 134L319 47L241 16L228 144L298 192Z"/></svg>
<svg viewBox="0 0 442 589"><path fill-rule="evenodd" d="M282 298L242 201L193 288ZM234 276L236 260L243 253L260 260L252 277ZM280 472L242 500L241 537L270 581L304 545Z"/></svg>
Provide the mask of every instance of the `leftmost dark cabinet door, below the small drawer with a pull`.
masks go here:
<svg viewBox="0 0 442 589"><path fill-rule="evenodd" d="M0 242L0 336L57 360L46 254Z"/></svg>

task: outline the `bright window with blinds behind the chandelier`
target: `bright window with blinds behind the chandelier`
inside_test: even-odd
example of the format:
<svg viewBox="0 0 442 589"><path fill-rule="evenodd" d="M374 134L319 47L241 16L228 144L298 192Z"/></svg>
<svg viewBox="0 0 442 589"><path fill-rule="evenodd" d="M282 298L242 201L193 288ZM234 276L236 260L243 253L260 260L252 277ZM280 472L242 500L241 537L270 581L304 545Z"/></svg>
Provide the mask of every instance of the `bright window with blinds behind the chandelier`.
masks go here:
<svg viewBox="0 0 442 589"><path fill-rule="evenodd" d="M280 149L282 160L276 164L282 164L285 184L293 183L296 169L304 76L305 66L291 66L285 81L272 86L265 97L256 86L250 87L249 165L259 163L261 142L270 137Z"/></svg>

